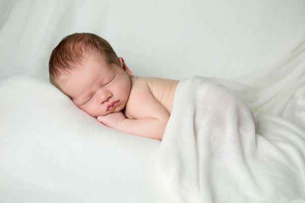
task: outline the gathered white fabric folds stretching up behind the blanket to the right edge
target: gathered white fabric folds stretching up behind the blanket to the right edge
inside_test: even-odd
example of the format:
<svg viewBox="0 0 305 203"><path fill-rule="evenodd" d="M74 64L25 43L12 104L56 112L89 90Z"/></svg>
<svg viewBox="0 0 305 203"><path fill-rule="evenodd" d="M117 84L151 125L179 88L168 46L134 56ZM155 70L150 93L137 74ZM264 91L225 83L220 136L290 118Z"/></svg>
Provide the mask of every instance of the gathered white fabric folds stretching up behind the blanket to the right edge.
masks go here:
<svg viewBox="0 0 305 203"><path fill-rule="evenodd" d="M305 130L305 40L247 76L210 80L237 91L257 115L280 116Z"/></svg>

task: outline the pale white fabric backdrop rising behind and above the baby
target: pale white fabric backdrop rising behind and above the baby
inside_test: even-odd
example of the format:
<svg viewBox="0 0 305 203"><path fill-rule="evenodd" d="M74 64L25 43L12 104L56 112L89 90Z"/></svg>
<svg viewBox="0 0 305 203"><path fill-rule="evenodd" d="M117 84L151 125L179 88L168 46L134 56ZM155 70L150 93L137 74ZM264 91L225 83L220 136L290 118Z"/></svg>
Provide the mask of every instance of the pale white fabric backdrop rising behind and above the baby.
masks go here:
<svg viewBox="0 0 305 203"><path fill-rule="evenodd" d="M0 79L47 78L48 59L73 32L110 42L138 76L230 78L305 36L303 0L2 0Z"/></svg>

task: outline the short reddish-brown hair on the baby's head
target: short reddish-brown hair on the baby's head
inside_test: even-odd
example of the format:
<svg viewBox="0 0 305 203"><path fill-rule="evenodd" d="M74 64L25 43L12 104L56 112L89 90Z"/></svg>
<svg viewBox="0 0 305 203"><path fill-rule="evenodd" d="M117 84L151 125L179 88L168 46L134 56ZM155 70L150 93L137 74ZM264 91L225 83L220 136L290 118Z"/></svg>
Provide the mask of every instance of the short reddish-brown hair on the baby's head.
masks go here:
<svg viewBox="0 0 305 203"><path fill-rule="evenodd" d="M67 73L68 70L72 70L72 65L80 64L84 60L83 54L86 52L101 54L108 64L120 65L116 53L106 40L94 33L73 33L63 38L51 53L50 82L60 89L58 84L60 73Z"/></svg>

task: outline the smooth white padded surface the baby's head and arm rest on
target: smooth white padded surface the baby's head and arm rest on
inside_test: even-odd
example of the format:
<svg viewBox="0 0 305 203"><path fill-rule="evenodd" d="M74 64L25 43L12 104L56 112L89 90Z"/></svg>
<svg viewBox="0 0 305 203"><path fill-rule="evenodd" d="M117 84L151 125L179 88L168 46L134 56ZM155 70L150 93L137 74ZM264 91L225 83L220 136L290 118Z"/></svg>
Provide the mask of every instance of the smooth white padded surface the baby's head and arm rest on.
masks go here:
<svg viewBox="0 0 305 203"><path fill-rule="evenodd" d="M0 202L168 202L160 141L107 128L49 83L0 82Z"/></svg>

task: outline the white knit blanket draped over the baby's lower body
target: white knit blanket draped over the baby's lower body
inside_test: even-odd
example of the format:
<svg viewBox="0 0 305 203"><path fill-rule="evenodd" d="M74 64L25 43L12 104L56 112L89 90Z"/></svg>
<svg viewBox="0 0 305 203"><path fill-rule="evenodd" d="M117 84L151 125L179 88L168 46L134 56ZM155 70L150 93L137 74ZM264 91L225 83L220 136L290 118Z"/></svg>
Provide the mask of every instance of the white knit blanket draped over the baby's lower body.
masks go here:
<svg viewBox="0 0 305 203"><path fill-rule="evenodd" d="M194 76L179 82L159 151L170 202L305 202L305 132L255 119L233 90Z"/></svg>

